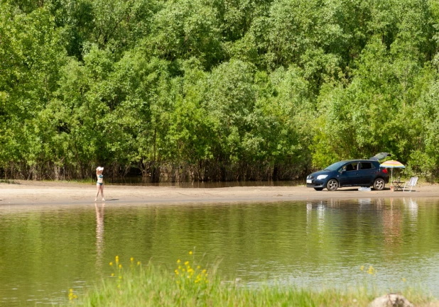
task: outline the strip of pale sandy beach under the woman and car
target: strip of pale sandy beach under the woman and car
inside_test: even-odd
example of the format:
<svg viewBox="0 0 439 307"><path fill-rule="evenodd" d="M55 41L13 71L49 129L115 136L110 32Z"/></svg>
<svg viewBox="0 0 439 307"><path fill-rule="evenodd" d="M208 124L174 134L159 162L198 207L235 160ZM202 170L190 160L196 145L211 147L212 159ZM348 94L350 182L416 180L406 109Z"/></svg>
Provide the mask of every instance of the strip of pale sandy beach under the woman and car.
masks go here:
<svg viewBox="0 0 439 307"><path fill-rule="evenodd" d="M430 198L439 196L439 184L421 184L411 193L391 191L315 191L305 186L237 186L214 189L179 188L174 186L119 186L106 184L106 203L200 203L303 201L320 199ZM14 181L0 184L0 206L32 204L94 203L94 184L66 182ZM100 197L98 198L100 199ZM99 201L100 202L100 201Z"/></svg>

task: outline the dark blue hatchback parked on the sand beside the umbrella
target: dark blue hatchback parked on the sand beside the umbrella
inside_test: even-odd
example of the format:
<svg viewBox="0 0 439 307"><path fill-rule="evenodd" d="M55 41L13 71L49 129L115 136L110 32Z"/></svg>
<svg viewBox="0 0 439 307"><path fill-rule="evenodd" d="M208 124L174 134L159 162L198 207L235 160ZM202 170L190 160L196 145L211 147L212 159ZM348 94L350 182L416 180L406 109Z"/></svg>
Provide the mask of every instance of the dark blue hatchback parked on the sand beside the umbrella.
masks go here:
<svg viewBox="0 0 439 307"><path fill-rule="evenodd" d="M387 182L389 174L376 160L340 161L306 177L306 186L317 191L335 191L345 186L373 186L382 190Z"/></svg>

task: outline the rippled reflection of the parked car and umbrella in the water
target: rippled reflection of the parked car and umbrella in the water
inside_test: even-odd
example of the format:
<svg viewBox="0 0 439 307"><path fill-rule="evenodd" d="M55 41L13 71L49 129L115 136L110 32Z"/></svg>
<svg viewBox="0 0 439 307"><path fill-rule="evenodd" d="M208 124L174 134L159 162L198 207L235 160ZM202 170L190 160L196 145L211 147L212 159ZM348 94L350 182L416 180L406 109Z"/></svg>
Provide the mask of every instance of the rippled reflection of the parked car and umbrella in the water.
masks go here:
<svg viewBox="0 0 439 307"><path fill-rule="evenodd" d="M397 259L399 253L402 252L404 244L407 244L407 233L404 232L406 227L411 233L416 232L418 228L418 201L412 198L403 199L357 199L346 202L344 200L330 199L327 201L308 201L306 203L306 221L307 233L310 225L314 225L313 210L316 212L318 218L319 235L323 232L337 233L344 229L337 227L345 226L351 229L361 230L362 228L370 229L370 233L364 233L362 236L367 240L381 239L382 245L375 248L380 248L382 255L387 259ZM349 213L355 210L355 213ZM335 212L339 211L339 212ZM325 226L325 218L329 216L332 221L328 224L330 229ZM336 218L345 219L342 223L337 223ZM348 226L349 225L349 226ZM357 240L360 236L357 233ZM322 240L319 242L323 243ZM374 245L372 243L372 245ZM352 248L349 246L349 248ZM407 252L407 251L406 251Z"/></svg>

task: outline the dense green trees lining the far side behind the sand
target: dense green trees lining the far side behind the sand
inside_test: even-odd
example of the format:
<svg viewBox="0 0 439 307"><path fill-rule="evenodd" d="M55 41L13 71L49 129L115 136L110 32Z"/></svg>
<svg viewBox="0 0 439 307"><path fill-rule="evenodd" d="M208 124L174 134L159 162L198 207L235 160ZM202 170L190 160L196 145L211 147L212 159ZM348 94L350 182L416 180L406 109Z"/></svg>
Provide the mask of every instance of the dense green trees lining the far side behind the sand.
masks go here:
<svg viewBox="0 0 439 307"><path fill-rule="evenodd" d="M437 0L0 0L0 175L437 175L438 50Z"/></svg>

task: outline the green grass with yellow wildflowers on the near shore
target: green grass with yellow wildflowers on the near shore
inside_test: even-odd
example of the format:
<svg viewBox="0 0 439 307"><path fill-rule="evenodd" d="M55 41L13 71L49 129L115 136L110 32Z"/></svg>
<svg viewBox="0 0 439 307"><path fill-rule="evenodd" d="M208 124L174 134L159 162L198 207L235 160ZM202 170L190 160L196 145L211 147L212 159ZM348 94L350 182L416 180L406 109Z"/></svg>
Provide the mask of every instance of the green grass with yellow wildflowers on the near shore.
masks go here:
<svg viewBox="0 0 439 307"><path fill-rule="evenodd" d="M169 272L153 264L143 266L131 258L128 268L113 264L112 277L103 279L85 293L70 289L65 306L367 306L386 294L364 284L355 289L313 291L293 285L249 286L239 281L223 281L216 267L202 269L190 262L176 264ZM438 306L421 290L407 288L402 293L416 306Z"/></svg>

